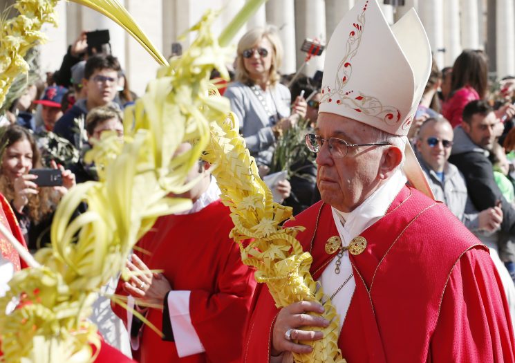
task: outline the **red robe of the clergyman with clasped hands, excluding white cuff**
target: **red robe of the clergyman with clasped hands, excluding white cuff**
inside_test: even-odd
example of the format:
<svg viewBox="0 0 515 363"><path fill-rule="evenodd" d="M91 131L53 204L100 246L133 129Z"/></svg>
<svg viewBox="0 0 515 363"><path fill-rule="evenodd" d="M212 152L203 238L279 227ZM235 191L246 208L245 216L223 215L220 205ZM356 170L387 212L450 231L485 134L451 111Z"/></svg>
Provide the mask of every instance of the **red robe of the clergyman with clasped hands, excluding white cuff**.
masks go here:
<svg viewBox="0 0 515 363"><path fill-rule="evenodd" d="M229 238L234 227L229 214L218 200L196 213L162 216L138 242L150 252L136 252L150 269L162 270L172 289L191 291L191 324L205 348L205 353L179 358L174 342L143 326L140 362L241 362L256 282ZM125 311L115 310L127 319ZM149 309L147 319L162 331L162 310Z"/></svg>

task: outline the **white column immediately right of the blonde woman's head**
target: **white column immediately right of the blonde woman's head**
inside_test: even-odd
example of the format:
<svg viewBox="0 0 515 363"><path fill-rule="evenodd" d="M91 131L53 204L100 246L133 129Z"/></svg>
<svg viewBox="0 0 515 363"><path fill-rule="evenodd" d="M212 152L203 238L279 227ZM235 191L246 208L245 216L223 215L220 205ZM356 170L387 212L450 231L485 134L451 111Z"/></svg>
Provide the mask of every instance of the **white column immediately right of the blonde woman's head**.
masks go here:
<svg viewBox="0 0 515 363"><path fill-rule="evenodd" d="M281 73L294 73L297 70L296 54L299 51L295 41L294 0L268 1L266 19L268 24L277 26L283 43L284 57Z"/></svg>

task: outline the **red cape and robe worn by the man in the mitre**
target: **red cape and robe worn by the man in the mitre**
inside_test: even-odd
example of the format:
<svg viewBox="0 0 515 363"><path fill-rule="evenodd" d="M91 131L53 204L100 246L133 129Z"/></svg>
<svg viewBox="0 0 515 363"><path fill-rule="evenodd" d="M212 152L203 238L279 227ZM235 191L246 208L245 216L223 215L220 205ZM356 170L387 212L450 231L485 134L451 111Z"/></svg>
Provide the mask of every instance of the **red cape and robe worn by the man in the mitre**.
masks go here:
<svg viewBox="0 0 515 363"><path fill-rule="evenodd" d="M304 250L315 234L311 273L319 279L335 257L324 250L338 235L330 206L317 203L289 224L306 227ZM350 254L356 288L338 342L348 363L515 362L494 263L447 207L404 187L360 236L368 244ZM243 362L265 363L279 310L261 284L252 307Z"/></svg>

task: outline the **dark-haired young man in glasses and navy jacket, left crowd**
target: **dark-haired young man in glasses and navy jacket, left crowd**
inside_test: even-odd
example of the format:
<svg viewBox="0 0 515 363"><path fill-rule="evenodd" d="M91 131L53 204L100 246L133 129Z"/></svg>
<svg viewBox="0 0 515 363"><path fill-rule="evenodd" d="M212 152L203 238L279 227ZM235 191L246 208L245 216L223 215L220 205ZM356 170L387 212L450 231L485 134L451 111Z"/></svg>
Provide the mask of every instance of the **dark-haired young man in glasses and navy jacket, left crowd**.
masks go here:
<svg viewBox="0 0 515 363"><path fill-rule="evenodd" d="M95 55L88 58L82 80L86 98L77 100L73 107L57 120L54 132L66 138L77 149L82 149L82 144L86 139L84 120L88 112L95 107L108 104L120 109L120 106L113 102L118 94L120 70L118 59L112 55Z"/></svg>

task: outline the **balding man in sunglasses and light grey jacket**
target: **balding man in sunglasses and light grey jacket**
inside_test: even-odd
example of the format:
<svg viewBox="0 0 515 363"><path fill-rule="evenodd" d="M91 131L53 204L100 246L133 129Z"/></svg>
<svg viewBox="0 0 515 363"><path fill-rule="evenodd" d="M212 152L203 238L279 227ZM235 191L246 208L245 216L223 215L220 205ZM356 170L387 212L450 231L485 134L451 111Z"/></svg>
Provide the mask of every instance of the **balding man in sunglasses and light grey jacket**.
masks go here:
<svg viewBox="0 0 515 363"><path fill-rule="evenodd" d="M503 221L503 212L494 206L478 213L472 207L465 178L447 161L451 156L452 140L451 124L441 116L426 120L418 133L417 158L435 199L444 202L472 232L495 232Z"/></svg>

